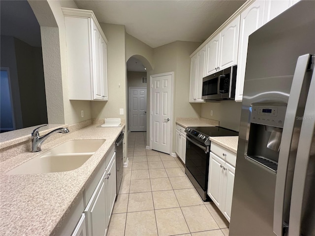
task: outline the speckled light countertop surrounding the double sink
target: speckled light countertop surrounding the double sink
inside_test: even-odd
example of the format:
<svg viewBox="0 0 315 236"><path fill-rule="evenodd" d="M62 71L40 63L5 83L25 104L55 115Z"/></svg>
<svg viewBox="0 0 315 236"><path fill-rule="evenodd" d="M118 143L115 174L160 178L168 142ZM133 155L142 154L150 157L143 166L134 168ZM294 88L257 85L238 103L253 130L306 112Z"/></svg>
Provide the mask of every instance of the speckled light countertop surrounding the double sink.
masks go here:
<svg viewBox="0 0 315 236"><path fill-rule="evenodd" d="M94 176L95 169L125 125L90 125L42 145L42 151L25 152L0 163L0 235L54 235L76 200ZM5 175L6 172L68 140L105 139L104 144L81 167L73 171Z"/></svg>

